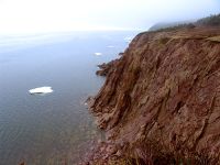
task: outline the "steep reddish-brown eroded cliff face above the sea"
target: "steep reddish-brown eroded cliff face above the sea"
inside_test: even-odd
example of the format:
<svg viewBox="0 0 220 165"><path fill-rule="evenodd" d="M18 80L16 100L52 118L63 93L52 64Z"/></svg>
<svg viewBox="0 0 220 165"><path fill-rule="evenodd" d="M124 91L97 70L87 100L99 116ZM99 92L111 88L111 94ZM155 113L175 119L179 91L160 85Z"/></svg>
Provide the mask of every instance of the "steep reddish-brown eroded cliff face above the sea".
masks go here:
<svg viewBox="0 0 220 165"><path fill-rule="evenodd" d="M213 36L220 29L139 34L106 70L91 102L108 140L120 146L154 141L169 153L218 160L220 43Z"/></svg>

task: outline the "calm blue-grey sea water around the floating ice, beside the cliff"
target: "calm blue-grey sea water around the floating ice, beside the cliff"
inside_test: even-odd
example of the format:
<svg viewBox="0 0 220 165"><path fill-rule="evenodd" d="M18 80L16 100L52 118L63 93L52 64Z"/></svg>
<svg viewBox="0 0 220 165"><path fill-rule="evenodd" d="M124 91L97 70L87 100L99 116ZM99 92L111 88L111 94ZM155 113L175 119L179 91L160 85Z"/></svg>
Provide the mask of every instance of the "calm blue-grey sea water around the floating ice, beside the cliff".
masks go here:
<svg viewBox="0 0 220 165"><path fill-rule="evenodd" d="M77 164L99 134L84 102L105 78L97 65L118 57L136 32L0 37L0 165ZM100 52L102 56L95 56ZM53 94L28 90L52 86Z"/></svg>

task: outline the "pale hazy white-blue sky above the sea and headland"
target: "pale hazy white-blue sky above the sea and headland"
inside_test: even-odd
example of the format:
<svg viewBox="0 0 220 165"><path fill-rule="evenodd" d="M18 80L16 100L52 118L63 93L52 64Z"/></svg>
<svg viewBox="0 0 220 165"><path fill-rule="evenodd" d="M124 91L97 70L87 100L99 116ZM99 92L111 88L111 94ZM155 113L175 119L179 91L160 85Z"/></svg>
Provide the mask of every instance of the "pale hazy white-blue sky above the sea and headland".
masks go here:
<svg viewBox="0 0 220 165"><path fill-rule="evenodd" d="M220 12L220 0L0 0L0 34L144 29Z"/></svg>

